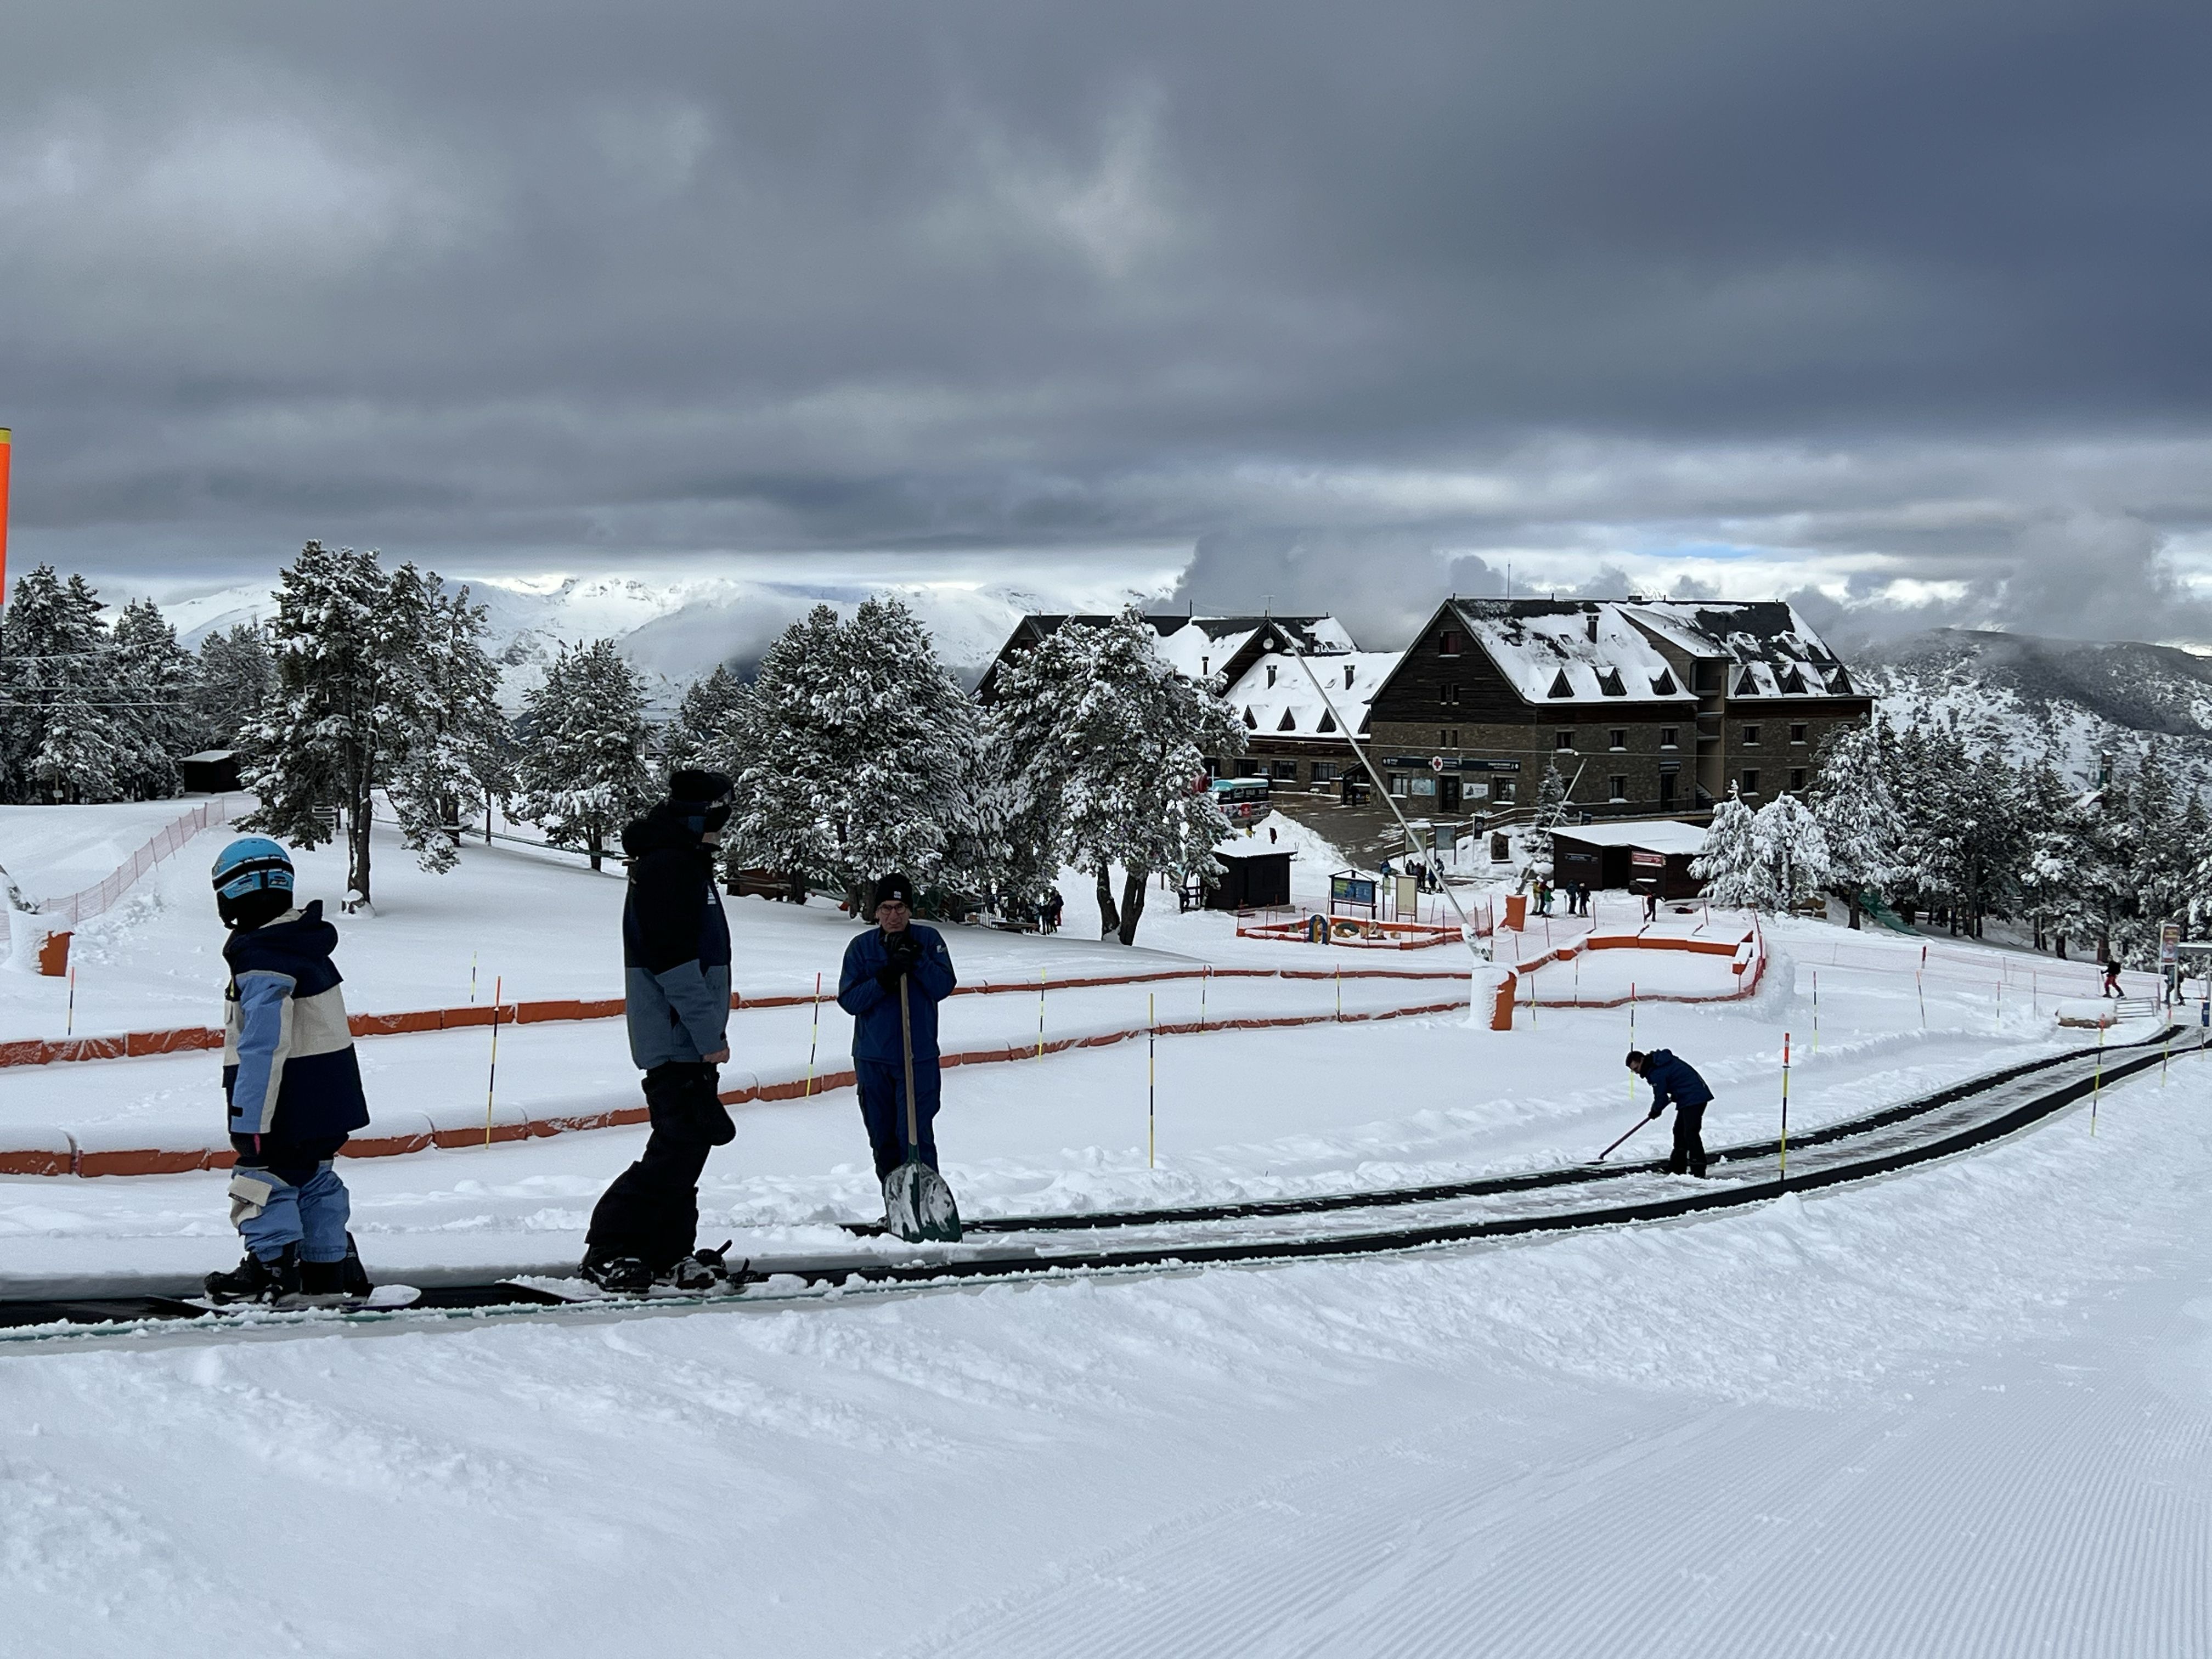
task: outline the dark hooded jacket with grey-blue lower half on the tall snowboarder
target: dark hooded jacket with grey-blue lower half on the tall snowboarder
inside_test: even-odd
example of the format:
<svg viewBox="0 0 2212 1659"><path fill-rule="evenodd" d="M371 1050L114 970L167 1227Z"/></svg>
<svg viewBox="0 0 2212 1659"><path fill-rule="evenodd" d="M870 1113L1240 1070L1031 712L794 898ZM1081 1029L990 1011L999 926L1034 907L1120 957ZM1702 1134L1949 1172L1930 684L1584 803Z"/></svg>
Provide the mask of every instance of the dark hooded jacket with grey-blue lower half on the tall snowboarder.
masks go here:
<svg viewBox="0 0 2212 1659"><path fill-rule="evenodd" d="M622 832L622 998L639 1071L697 1064L728 1044L730 918L697 818L661 801Z"/></svg>

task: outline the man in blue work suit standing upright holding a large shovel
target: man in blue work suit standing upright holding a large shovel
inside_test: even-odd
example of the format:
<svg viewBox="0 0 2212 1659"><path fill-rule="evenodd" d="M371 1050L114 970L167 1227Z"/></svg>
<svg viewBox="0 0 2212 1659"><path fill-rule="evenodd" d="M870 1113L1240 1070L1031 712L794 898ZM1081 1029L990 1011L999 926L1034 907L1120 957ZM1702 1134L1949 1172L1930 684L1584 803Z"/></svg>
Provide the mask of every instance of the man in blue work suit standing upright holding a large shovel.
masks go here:
<svg viewBox="0 0 2212 1659"><path fill-rule="evenodd" d="M938 1166L938 1004L953 993L953 958L945 936L914 920L914 885L905 876L876 883L876 925L845 947L836 1004L852 1015L852 1068L860 1084L860 1119L876 1152L876 1179L907 1161L907 1066L898 1031L898 982L907 982L914 1037L914 1115L922 1164Z"/></svg>

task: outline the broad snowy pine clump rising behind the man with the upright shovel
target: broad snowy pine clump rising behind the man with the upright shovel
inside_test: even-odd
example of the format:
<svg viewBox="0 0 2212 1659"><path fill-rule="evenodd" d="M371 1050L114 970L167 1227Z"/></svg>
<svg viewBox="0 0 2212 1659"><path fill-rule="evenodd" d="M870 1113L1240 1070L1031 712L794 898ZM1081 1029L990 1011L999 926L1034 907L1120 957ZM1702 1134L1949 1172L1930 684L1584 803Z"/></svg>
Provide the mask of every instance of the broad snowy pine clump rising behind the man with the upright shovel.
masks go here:
<svg viewBox="0 0 2212 1659"><path fill-rule="evenodd" d="M852 622L821 604L761 657L743 726L730 863L845 889L902 872L973 898L982 872L951 863L978 812L975 703L898 599Z"/></svg>

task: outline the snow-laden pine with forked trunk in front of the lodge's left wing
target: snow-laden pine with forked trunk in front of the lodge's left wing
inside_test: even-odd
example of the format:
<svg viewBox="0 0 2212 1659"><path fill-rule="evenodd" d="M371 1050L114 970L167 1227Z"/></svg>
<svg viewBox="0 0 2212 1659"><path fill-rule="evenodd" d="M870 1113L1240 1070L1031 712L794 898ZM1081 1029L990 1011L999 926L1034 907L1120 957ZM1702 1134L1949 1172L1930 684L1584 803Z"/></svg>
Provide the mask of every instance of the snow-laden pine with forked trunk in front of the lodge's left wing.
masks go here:
<svg viewBox="0 0 2212 1659"><path fill-rule="evenodd" d="M1124 945L1137 940L1155 869L1219 876L1212 849L1230 825L1203 787L1206 757L1241 754L1245 728L1219 677L1199 684L1161 659L1141 613L1066 624L1002 670L993 728L1037 770L1031 805L1053 803L1060 852L1093 872L1099 916Z"/></svg>

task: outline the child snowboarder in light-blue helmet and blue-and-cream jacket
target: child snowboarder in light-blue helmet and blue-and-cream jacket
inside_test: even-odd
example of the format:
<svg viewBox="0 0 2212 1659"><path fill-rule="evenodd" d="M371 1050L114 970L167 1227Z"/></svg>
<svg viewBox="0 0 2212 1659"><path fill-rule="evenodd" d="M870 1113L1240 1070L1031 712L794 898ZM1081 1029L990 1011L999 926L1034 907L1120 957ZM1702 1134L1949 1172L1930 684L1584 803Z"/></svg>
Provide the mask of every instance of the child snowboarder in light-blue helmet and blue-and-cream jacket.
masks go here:
<svg viewBox="0 0 2212 1659"><path fill-rule="evenodd" d="M208 1274L215 1301L365 1296L352 1203L332 1159L369 1121L323 900L292 905L292 858L246 836L215 860L223 960L223 1097L230 1102L230 1223L246 1261Z"/></svg>

